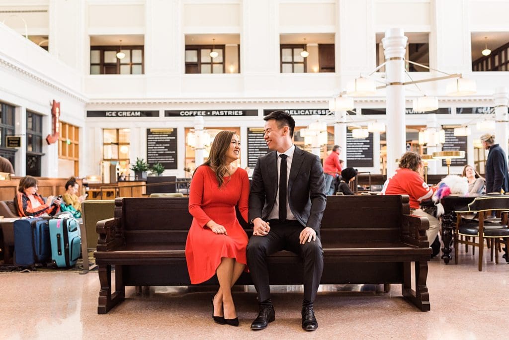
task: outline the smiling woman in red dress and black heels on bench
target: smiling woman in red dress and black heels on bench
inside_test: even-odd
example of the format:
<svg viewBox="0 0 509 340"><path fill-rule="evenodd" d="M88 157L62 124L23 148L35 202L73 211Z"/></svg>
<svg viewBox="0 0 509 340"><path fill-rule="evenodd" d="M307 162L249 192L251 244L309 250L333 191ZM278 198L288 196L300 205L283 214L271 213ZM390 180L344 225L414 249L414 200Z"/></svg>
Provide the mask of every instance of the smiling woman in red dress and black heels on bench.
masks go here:
<svg viewBox="0 0 509 340"><path fill-rule="evenodd" d="M237 167L239 137L219 132L207 161L196 168L189 191L193 216L186 241L186 260L192 284L217 274L219 290L212 299L212 316L220 324L239 325L231 288L244 271L247 235L237 220L235 206L247 221L249 179Z"/></svg>

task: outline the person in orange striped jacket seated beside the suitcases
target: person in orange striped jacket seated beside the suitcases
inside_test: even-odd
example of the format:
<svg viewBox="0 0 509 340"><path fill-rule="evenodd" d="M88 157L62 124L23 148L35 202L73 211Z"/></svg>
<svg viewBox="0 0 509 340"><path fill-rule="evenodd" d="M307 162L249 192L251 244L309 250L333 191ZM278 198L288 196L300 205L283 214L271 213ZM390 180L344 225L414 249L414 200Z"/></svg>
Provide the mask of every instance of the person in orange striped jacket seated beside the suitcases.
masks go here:
<svg viewBox="0 0 509 340"><path fill-rule="evenodd" d="M59 212L62 203L60 198L53 201L54 196L48 196L44 200L37 189L37 179L32 176L25 176L19 181L18 192L14 197L14 206L19 216L54 215Z"/></svg>

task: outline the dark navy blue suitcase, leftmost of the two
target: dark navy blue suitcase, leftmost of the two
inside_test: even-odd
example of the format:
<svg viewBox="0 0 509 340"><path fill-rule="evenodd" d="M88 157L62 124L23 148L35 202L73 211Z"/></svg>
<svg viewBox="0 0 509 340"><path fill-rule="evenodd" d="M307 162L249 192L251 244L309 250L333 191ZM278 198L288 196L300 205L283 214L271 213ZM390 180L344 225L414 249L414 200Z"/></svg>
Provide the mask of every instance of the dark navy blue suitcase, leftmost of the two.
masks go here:
<svg viewBox="0 0 509 340"><path fill-rule="evenodd" d="M51 261L48 221L40 217L14 221L14 263L33 266Z"/></svg>

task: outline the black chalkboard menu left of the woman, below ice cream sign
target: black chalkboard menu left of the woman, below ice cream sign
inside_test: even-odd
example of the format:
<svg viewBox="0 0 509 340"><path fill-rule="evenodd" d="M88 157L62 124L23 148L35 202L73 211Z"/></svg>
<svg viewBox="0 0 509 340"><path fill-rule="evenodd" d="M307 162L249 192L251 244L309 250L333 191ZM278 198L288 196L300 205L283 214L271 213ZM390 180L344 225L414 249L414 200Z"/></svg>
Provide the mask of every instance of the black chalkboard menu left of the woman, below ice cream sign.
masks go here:
<svg viewBox="0 0 509 340"><path fill-rule="evenodd" d="M147 163L177 168L177 129L147 129Z"/></svg>

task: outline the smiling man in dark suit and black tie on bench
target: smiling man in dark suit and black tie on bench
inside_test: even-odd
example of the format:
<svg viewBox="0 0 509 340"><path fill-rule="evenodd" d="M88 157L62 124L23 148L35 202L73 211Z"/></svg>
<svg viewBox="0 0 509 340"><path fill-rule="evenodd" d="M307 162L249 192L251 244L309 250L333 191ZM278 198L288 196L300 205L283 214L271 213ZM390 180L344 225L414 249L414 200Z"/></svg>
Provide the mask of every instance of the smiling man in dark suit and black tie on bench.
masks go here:
<svg viewBox="0 0 509 340"><path fill-rule="evenodd" d="M264 120L264 139L272 152L258 159L249 193L253 236L247 245L247 265L260 305L251 329L264 329L275 320L266 260L285 249L304 259L302 328L311 331L318 328L313 302L323 270L320 222L327 200L323 169L318 156L292 143L292 116L274 111Z"/></svg>

